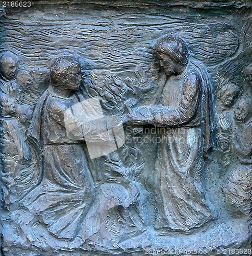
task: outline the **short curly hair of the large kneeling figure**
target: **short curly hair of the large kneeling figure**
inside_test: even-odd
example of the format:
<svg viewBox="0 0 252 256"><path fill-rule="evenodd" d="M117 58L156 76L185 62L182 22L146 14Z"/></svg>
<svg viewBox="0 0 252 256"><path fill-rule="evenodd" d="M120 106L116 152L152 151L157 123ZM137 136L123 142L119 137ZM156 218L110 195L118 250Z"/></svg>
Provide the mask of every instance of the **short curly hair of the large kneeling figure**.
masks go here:
<svg viewBox="0 0 252 256"><path fill-rule="evenodd" d="M60 86L68 72L76 68L81 68L81 63L72 57L60 57L56 59L50 69L51 82L55 86Z"/></svg>

